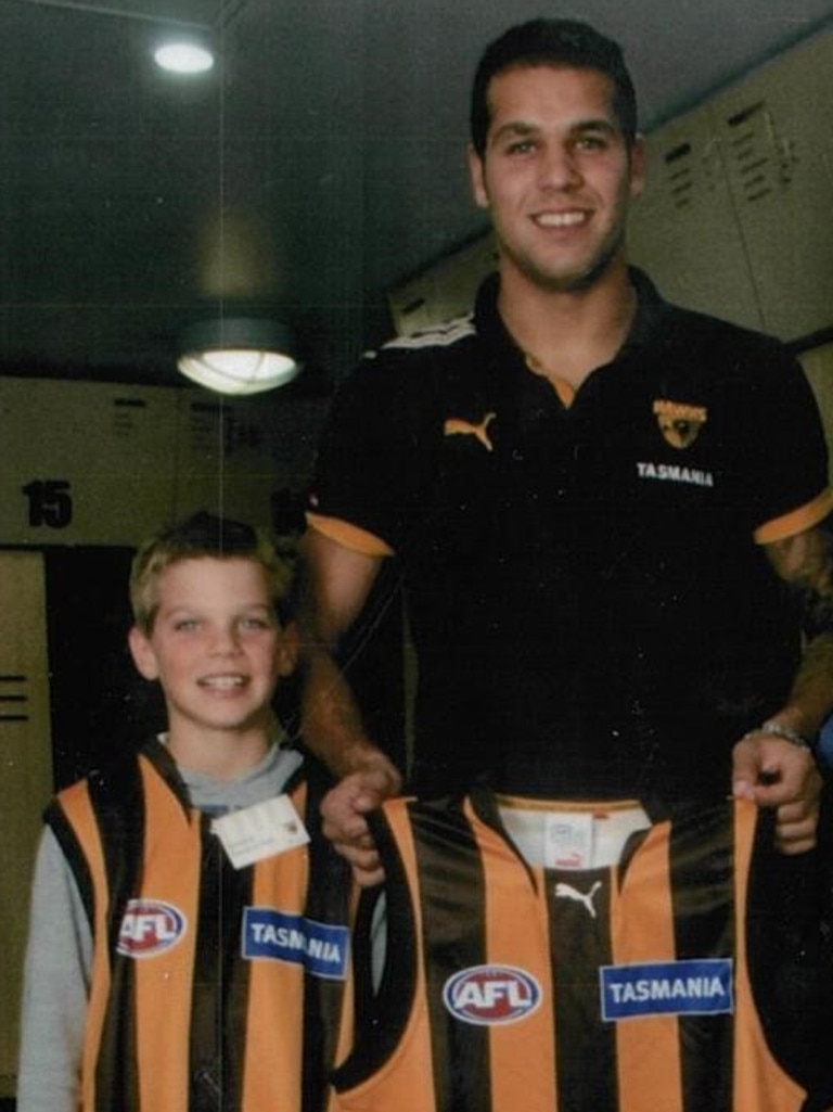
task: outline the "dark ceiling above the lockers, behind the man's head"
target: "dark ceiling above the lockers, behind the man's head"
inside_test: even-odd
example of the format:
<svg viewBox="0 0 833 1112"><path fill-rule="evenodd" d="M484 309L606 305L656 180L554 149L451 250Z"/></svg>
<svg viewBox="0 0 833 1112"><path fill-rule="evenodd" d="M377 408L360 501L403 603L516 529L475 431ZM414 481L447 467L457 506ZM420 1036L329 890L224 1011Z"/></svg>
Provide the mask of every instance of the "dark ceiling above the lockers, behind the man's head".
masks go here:
<svg viewBox="0 0 833 1112"><path fill-rule="evenodd" d="M468 83L516 0L0 0L0 371L176 381L206 314L282 312L337 379L385 290L483 228ZM833 19L833 0L583 0L649 128ZM219 63L151 48L210 26Z"/></svg>

